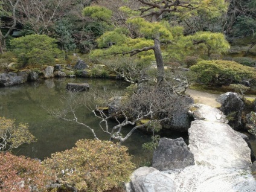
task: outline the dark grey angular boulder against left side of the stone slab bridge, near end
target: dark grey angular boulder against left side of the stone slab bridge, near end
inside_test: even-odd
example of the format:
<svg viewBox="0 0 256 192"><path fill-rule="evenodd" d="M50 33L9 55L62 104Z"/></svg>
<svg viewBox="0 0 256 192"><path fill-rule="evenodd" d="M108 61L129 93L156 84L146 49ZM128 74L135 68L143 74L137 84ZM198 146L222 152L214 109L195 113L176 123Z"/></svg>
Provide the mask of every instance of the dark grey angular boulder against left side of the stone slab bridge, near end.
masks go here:
<svg viewBox="0 0 256 192"><path fill-rule="evenodd" d="M182 138L161 138L154 152L152 167L159 171L184 168L194 165L194 155Z"/></svg>

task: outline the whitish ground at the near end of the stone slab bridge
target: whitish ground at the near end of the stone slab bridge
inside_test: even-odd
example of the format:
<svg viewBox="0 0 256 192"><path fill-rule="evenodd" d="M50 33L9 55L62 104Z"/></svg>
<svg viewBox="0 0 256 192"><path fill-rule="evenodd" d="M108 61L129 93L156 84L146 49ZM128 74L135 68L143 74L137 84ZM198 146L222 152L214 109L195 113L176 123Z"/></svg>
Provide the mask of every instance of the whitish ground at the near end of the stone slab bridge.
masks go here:
<svg viewBox="0 0 256 192"><path fill-rule="evenodd" d="M252 192L256 189L255 178L249 170L193 165L164 173L170 175L179 192Z"/></svg>

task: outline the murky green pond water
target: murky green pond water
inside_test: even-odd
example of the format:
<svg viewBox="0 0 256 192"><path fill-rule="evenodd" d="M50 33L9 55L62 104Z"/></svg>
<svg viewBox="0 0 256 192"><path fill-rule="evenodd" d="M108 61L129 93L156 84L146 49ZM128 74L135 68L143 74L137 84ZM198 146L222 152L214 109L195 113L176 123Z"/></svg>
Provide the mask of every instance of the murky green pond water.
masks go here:
<svg viewBox="0 0 256 192"><path fill-rule="evenodd" d="M82 138L93 139L92 133L83 126L74 122L62 120L50 120L44 107L59 107L60 98L67 95L66 83L86 82L95 91L121 91L126 88L127 83L115 80L99 80L85 78L54 78L42 82L31 82L19 86L0 89L0 115L13 118L16 123L28 123L30 132L36 136L37 141L25 144L14 150L16 155L30 156L31 158L44 159L51 153L70 149L75 141ZM91 89L89 91L91 91ZM109 136L98 127L98 120L94 114L85 107L78 110L80 121L94 127L100 139L109 139ZM125 131L129 131L126 127ZM150 158L147 152L142 150L142 144L149 142L150 136L136 131L124 143L129 147L129 153L134 156L135 161Z"/></svg>

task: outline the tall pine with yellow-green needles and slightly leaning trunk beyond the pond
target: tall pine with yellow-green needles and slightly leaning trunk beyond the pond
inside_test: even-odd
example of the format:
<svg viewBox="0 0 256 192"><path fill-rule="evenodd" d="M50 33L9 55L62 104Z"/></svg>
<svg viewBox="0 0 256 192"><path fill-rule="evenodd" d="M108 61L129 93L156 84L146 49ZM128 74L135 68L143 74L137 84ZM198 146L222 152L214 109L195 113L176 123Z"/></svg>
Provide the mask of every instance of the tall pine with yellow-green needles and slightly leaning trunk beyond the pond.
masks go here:
<svg viewBox="0 0 256 192"><path fill-rule="evenodd" d="M158 85L165 82L163 55L174 51L168 50L168 48L173 46L175 50L182 51L181 48L187 48L190 45L190 43L186 42L187 38L182 38L182 28L171 26L167 21L164 21L162 19L164 14L170 12L175 14L192 14L194 10L198 9L209 9L211 10L210 13L214 14L220 10L225 10L227 7L225 1L222 0L194 1L191 3L180 1L138 1L142 4L139 10L134 11L129 7L121 8L130 15L130 19L127 19L126 22L131 27L128 30L117 27L114 31L104 33L98 39L98 46L100 48L109 46L109 48L107 50L97 50L94 54L130 54L130 56L139 54L139 56L149 60L155 59L158 68ZM83 10L84 14L89 14L88 8ZM218 37L218 40L224 42L222 44L225 46L223 50L228 49L229 46L225 41L225 37L221 34ZM196 44L206 43L206 40L195 39L194 42ZM163 53L161 48L162 50L164 49Z"/></svg>

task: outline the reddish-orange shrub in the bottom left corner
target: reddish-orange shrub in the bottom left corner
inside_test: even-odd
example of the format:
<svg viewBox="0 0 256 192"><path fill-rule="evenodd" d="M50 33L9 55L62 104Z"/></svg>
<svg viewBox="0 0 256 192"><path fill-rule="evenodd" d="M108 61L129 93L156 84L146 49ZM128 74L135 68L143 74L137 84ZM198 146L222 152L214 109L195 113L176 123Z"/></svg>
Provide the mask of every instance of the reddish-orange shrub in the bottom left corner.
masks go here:
<svg viewBox="0 0 256 192"><path fill-rule="evenodd" d="M46 191L45 185L54 179L37 160L0 153L0 162L2 192Z"/></svg>

